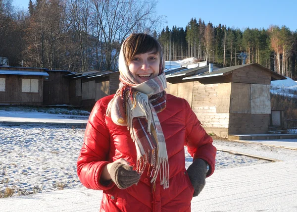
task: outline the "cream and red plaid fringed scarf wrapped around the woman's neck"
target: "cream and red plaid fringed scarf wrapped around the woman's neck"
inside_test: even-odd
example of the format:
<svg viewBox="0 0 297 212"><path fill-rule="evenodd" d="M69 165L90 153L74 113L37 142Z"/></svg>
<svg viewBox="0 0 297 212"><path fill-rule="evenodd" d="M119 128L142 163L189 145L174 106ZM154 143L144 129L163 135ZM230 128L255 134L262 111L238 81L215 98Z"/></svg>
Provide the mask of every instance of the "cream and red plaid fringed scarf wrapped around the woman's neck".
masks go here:
<svg viewBox="0 0 297 212"><path fill-rule="evenodd" d="M163 71L163 58L160 68ZM131 75L122 50L119 56L120 86L109 102L106 115L117 125L127 126L137 152L138 173L148 167L151 183L160 176L164 189L169 187L169 163L165 138L157 113L166 107L166 77L161 73L141 84Z"/></svg>

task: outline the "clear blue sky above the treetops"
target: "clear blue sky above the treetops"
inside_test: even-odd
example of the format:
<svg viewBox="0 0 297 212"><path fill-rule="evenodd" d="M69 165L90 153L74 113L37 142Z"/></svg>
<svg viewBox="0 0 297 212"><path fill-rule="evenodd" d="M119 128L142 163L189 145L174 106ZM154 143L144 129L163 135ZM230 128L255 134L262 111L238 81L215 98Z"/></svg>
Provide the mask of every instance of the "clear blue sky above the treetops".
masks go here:
<svg viewBox="0 0 297 212"><path fill-rule="evenodd" d="M13 0L19 8L28 8L29 0ZM244 30L286 25L297 30L297 0L159 0L157 14L166 16L166 25L186 27L191 18L201 18L217 26Z"/></svg>

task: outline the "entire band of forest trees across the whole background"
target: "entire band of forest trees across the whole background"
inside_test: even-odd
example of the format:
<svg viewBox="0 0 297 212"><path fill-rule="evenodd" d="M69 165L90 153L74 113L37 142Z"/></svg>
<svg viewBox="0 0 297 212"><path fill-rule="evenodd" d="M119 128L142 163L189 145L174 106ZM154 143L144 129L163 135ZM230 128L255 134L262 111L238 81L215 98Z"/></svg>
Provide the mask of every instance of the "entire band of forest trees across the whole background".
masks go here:
<svg viewBox="0 0 297 212"><path fill-rule="evenodd" d="M28 11L12 2L0 0L0 57L10 66L116 70L124 39L145 32L159 40L165 60L195 57L227 67L245 57L297 78L297 30L285 25L240 30L192 18L185 28L162 29L156 0L29 0Z"/></svg>

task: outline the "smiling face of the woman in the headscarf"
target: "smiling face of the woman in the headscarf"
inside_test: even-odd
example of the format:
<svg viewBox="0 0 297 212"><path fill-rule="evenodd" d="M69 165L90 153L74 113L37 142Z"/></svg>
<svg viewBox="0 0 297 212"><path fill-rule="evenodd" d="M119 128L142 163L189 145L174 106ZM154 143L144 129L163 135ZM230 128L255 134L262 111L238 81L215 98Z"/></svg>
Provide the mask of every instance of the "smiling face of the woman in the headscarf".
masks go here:
<svg viewBox="0 0 297 212"><path fill-rule="evenodd" d="M129 70L138 83L143 83L159 75L159 53L148 52L136 54L129 62Z"/></svg>

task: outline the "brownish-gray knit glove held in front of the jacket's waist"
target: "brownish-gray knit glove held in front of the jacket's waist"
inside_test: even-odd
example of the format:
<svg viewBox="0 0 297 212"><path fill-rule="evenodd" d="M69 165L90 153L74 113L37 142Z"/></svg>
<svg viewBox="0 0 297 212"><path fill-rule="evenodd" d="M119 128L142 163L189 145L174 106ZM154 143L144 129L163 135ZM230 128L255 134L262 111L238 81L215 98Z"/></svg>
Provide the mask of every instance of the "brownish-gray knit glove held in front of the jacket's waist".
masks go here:
<svg viewBox="0 0 297 212"><path fill-rule="evenodd" d="M120 189L126 189L140 180L140 174L132 166L114 163L110 168L110 177Z"/></svg>

